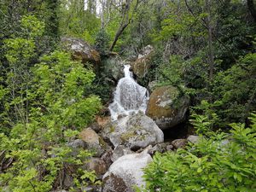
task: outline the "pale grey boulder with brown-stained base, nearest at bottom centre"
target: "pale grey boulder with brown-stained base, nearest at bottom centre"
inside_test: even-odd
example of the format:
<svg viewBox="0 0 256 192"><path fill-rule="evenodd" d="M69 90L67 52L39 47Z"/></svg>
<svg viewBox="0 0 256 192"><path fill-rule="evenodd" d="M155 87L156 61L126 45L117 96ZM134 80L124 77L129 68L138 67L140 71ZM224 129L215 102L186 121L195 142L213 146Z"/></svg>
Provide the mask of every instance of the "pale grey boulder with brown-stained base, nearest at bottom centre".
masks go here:
<svg viewBox="0 0 256 192"><path fill-rule="evenodd" d="M143 168L152 158L147 153L126 154L114 161L103 176L103 192L133 192L134 186L142 187Z"/></svg>

